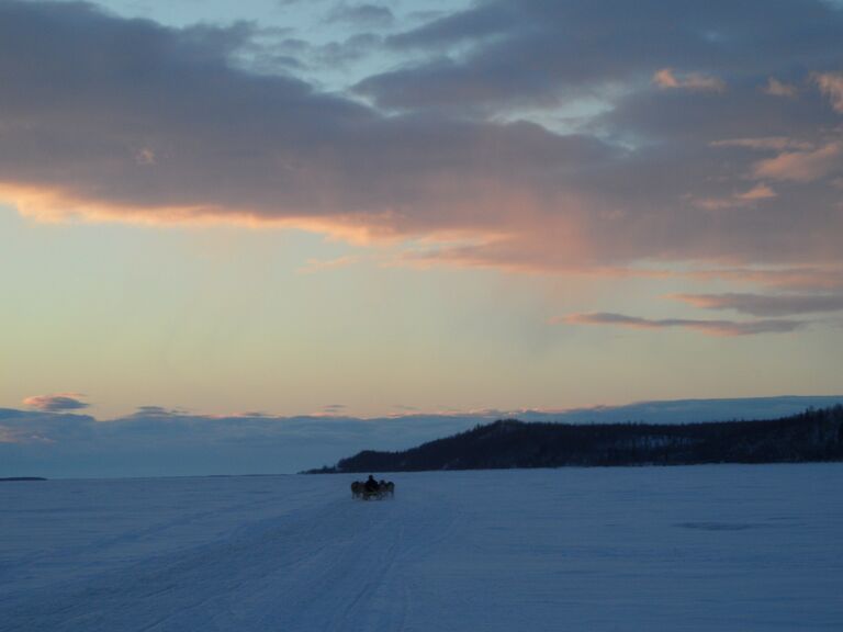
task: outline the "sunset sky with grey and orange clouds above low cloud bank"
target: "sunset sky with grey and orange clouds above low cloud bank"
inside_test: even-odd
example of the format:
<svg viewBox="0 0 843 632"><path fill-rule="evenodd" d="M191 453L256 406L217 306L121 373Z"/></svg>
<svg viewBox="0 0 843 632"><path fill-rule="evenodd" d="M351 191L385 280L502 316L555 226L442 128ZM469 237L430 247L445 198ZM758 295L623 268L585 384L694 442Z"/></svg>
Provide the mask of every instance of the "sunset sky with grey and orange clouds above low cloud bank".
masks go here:
<svg viewBox="0 0 843 632"><path fill-rule="evenodd" d="M843 393L839 3L0 0L0 407Z"/></svg>

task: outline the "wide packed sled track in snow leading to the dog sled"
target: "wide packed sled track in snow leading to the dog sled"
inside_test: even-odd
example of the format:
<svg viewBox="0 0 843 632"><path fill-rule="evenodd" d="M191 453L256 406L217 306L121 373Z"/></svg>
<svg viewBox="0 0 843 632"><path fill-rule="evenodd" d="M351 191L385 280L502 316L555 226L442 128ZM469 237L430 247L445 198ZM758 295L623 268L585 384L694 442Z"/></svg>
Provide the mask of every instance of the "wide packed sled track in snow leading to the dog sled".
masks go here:
<svg viewBox="0 0 843 632"><path fill-rule="evenodd" d="M24 599L0 597L0 611L13 622L0 629L404 630L411 608L404 572L430 544L427 535L442 533L453 521L453 512L441 509L424 497L359 503L342 494L81 583L50 585Z"/></svg>

